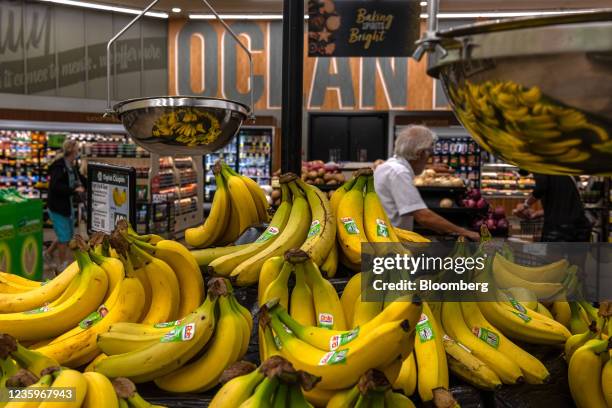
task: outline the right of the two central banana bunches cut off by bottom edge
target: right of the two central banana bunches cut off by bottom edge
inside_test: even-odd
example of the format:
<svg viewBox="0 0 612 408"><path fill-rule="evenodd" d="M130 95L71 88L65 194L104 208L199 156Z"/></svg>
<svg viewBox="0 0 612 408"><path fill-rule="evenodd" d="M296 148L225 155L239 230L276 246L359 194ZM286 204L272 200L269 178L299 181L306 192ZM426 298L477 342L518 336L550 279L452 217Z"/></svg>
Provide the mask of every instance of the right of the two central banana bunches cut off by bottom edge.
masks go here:
<svg viewBox="0 0 612 408"><path fill-rule="evenodd" d="M455 404L449 405L448 401L442 401L443 398L442 396L438 397L436 406L456 406ZM378 370L368 370L359 379L358 384L337 392L327 403L327 408L354 408L363 406L376 408L415 407L410 398L393 391L384 373Z"/></svg>

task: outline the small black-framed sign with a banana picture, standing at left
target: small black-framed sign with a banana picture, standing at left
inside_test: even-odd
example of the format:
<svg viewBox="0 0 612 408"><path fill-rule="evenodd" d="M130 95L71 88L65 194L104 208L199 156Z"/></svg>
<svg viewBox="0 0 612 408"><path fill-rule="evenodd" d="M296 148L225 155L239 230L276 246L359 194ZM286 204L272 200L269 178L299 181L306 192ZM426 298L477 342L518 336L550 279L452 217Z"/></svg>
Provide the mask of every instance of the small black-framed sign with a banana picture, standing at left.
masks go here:
<svg viewBox="0 0 612 408"><path fill-rule="evenodd" d="M121 220L136 224L136 170L101 163L87 166L87 229L110 234Z"/></svg>

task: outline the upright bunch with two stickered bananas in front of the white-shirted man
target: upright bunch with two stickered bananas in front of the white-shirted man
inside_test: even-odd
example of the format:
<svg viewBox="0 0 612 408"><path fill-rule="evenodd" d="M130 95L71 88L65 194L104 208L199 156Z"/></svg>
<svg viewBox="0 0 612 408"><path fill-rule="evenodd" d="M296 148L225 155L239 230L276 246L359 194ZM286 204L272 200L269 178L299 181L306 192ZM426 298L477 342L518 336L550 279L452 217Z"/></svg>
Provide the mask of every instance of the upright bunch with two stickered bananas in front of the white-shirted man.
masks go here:
<svg viewBox="0 0 612 408"><path fill-rule="evenodd" d="M349 269L361 269L361 245L364 243L428 242L411 231L395 228L374 189L370 168L358 170L354 177L331 197L336 216L340 261ZM398 246L397 251L403 251Z"/></svg>

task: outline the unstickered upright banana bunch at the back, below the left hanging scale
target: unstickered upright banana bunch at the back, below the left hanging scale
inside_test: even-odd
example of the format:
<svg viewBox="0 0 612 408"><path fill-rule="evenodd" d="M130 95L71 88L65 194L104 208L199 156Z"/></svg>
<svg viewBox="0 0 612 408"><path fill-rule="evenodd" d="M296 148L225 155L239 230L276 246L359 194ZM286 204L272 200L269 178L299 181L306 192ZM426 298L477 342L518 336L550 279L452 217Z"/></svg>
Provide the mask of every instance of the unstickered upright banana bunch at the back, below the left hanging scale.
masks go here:
<svg viewBox="0 0 612 408"><path fill-rule="evenodd" d="M187 244L197 248L230 244L250 226L268 222L268 201L255 181L220 161L212 170L217 190L210 214L185 231Z"/></svg>

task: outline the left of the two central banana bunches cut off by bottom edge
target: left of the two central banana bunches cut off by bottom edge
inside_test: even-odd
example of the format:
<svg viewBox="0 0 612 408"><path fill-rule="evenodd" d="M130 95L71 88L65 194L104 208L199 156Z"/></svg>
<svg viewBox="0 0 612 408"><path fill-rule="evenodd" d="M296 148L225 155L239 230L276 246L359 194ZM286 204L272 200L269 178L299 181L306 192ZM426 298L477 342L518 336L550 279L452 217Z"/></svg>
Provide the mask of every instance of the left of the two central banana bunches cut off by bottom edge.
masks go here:
<svg viewBox="0 0 612 408"><path fill-rule="evenodd" d="M302 390L315 387L319 378L296 370L279 355L265 360L260 367L245 361L230 366L225 384L211 401L211 408L308 408L312 405Z"/></svg>

